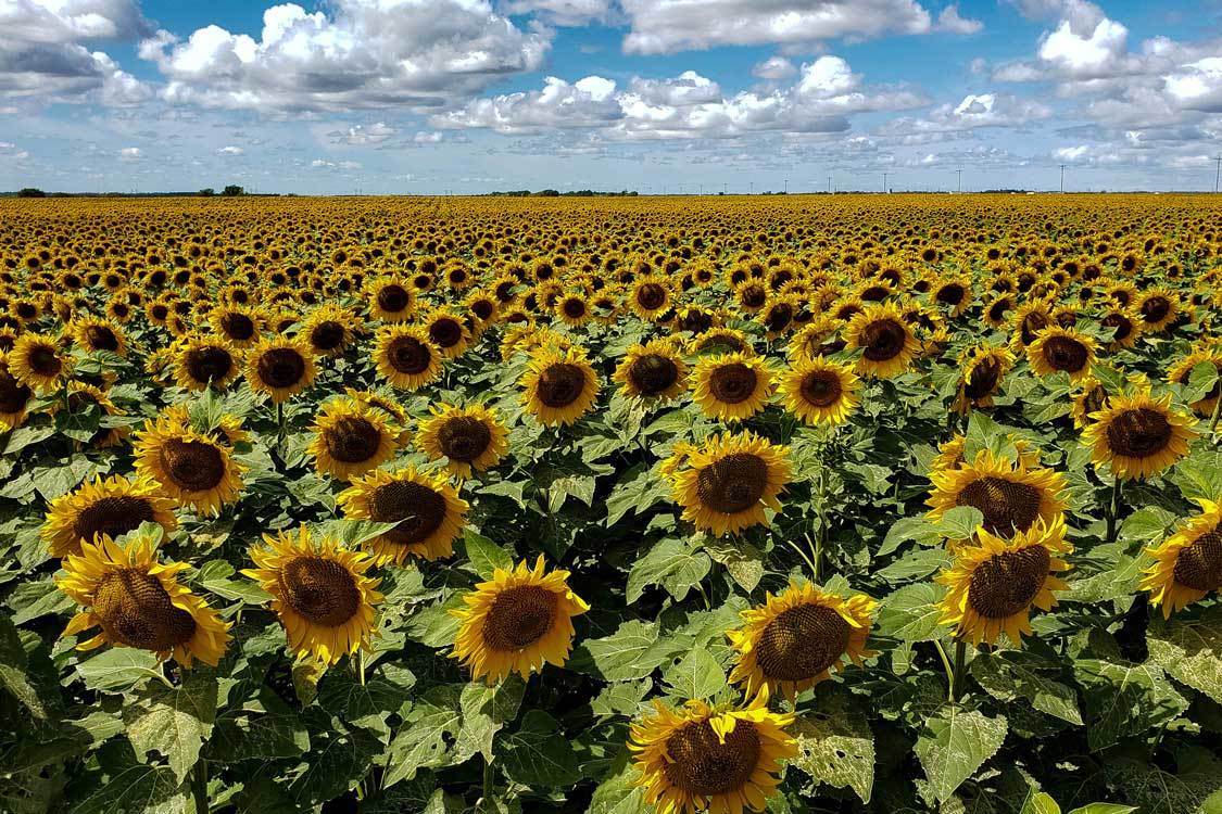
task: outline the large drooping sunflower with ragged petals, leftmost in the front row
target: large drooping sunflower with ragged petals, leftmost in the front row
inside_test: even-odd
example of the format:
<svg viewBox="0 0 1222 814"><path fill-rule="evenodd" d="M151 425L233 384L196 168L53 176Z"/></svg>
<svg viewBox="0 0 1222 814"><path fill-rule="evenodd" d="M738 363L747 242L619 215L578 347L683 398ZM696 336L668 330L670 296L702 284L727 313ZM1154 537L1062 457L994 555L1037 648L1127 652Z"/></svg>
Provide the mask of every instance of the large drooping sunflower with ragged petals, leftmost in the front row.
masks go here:
<svg viewBox="0 0 1222 814"><path fill-rule="evenodd" d="M101 632L77 644L90 650L103 644L134 647L174 658L189 668L194 659L216 666L230 641L230 625L186 586L177 575L186 563L159 563L150 537L133 536L119 544L106 535L82 543L79 554L62 561L55 585L84 610L62 636L90 627Z"/></svg>

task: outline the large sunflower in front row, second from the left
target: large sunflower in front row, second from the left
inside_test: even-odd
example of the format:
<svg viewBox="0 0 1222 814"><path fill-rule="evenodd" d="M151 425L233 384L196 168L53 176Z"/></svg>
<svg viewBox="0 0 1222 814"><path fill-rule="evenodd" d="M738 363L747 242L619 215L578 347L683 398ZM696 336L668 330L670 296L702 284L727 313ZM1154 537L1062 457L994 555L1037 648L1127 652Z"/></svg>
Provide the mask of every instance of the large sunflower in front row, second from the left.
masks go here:
<svg viewBox="0 0 1222 814"><path fill-rule="evenodd" d="M374 605L382 600L375 589L381 580L365 576L373 558L330 537L315 544L306 526L297 535L264 535L263 543L251 548L258 567L242 574L271 594L297 658L329 666L362 647L369 650Z"/></svg>

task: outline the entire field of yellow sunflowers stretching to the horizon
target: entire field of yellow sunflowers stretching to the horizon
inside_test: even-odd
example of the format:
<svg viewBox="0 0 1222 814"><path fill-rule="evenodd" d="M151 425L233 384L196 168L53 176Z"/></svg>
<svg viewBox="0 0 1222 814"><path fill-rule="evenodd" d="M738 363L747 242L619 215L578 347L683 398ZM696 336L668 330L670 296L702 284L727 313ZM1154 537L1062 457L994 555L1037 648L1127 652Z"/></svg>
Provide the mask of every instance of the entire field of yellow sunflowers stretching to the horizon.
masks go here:
<svg viewBox="0 0 1222 814"><path fill-rule="evenodd" d="M0 204L0 812L1218 814L1207 195Z"/></svg>

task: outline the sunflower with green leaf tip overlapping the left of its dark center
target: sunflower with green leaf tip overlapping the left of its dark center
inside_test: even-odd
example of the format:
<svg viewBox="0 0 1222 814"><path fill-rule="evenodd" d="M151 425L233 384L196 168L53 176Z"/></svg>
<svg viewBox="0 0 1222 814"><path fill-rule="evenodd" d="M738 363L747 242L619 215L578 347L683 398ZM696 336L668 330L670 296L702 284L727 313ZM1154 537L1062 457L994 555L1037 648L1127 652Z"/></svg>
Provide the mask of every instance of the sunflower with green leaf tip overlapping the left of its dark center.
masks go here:
<svg viewBox="0 0 1222 814"><path fill-rule="evenodd" d="M397 524L364 543L379 565L450 556L468 508L445 476L412 466L358 477L337 502L351 520Z"/></svg>

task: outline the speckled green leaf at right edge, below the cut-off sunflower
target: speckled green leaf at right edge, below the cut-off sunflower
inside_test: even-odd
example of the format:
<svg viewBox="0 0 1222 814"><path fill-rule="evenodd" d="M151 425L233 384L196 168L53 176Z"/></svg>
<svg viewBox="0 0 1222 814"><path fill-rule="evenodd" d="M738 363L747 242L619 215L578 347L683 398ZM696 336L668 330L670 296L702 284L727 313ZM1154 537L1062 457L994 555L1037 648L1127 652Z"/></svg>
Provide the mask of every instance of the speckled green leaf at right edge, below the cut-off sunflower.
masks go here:
<svg viewBox="0 0 1222 814"><path fill-rule="evenodd" d="M1222 704L1222 605L1206 608L1195 619L1180 614L1165 621L1155 614L1146 643L1151 661Z"/></svg>

